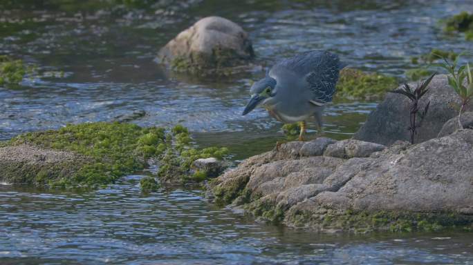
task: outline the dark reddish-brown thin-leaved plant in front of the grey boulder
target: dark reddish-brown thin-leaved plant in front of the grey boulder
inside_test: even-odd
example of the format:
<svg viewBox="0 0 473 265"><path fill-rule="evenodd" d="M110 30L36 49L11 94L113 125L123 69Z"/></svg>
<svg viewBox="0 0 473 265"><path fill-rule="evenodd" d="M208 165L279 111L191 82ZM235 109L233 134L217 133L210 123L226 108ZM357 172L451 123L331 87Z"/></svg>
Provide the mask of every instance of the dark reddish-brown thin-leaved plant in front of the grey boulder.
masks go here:
<svg viewBox="0 0 473 265"><path fill-rule="evenodd" d="M423 95L425 95L425 93L427 93L427 91L429 91L429 88L427 88L427 86L429 86L430 81L432 81L432 78L434 78L435 75L436 74L434 73L427 80L423 81L422 84L418 84L414 90L411 89L409 84L404 84L404 86L400 89L389 91L391 93L398 93L398 94L405 95L412 102L412 105L409 111L409 121L411 122L411 125L408 128L408 130L411 132L411 144L414 144L414 137L417 135L417 128L422 126L422 121L427 115L427 110L429 110L429 105L430 105L430 101L427 102L427 105L425 105L424 110L418 113L419 100L421 97L423 97ZM417 115L419 115L420 117L420 121L418 123L416 121Z"/></svg>

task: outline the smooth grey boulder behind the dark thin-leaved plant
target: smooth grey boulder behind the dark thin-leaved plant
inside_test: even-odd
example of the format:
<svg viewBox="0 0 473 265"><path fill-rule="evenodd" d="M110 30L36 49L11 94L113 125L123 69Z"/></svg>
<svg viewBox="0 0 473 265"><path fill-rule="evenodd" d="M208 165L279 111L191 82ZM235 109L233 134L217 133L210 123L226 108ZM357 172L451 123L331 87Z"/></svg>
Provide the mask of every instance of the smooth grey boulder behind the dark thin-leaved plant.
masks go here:
<svg viewBox="0 0 473 265"><path fill-rule="evenodd" d="M415 87L416 84L410 84ZM427 141L438 135L443 124L458 111L455 106L460 103L460 98L448 85L447 75L437 75L429 84L429 92L420 100L422 110L430 101L429 112L418 128L416 143ZM389 146L397 140L409 141L409 109L411 101L404 95L387 93L384 101L370 113L367 121L353 137L362 141L371 141ZM473 110L473 105L467 107Z"/></svg>

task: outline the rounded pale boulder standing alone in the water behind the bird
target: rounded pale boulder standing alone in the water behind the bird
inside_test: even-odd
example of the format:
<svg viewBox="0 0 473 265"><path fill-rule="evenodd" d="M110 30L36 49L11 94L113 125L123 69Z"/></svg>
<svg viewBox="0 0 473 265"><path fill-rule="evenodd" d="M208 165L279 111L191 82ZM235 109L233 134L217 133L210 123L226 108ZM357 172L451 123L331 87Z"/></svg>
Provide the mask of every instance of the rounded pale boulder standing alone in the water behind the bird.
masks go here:
<svg viewBox="0 0 473 265"><path fill-rule="evenodd" d="M222 17L205 17L180 32L158 53L175 70L202 72L248 63L254 57L248 34Z"/></svg>

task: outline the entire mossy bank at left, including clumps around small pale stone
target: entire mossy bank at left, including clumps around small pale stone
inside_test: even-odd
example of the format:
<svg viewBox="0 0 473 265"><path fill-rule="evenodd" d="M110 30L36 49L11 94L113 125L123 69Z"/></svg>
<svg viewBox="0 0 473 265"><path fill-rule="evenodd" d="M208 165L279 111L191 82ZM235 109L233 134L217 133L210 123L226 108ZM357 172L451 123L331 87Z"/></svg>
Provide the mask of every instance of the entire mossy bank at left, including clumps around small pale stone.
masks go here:
<svg viewBox="0 0 473 265"><path fill-rule="evenodd" d="M152 158L160 166L158 176L161 179L183 183L194 180L189 176L192 176L190 165L195 159L221 158L228 152L225 148L198 150L192 148L191 141L183 126L167 130L117 122L68 125L59 130L19 135L6 146L60 150L71 155L71 160L51 164L46 169L45 163L31 167L6 161L10 166L2 169L1 176L13 183L94 186L110 184L122 175L142 170ZM203 179L200 176L198 180Z"/></svg>

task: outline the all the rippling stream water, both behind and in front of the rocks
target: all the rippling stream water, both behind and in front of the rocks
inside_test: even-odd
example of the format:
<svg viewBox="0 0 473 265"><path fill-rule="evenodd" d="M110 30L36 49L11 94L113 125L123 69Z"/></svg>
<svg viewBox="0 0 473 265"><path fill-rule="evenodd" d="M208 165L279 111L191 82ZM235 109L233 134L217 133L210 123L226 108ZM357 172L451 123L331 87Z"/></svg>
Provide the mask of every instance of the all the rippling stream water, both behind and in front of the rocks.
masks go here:
<svg viewBox="0 0 473 265"><path fill-rule="evenodd" d="M281 124L263 110L241 116L250 81L263 69L198 79L154 61L160 46L210 14L243 26L264 66L328 49L350 66L403 79L413 55L472 48L438 23L472 10L470 0L190 0L143 9L57 3L0 1L0 54L35 63L39 72L20 86L0 86L0 139L145 110L133 122L184 124L197 144L228 146L234 159L270 150L282 137ZM48 77L52 72L64 77ZM375 106L331 104L324 117L328 136L351 137ZM88 193L0 185L0 264L473 263L471 233L317 235L255 224L207 204L200 190L145 196L138 179Z"/></svg>

